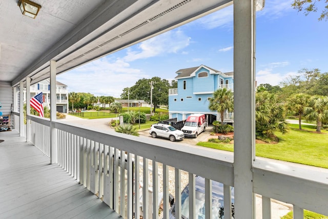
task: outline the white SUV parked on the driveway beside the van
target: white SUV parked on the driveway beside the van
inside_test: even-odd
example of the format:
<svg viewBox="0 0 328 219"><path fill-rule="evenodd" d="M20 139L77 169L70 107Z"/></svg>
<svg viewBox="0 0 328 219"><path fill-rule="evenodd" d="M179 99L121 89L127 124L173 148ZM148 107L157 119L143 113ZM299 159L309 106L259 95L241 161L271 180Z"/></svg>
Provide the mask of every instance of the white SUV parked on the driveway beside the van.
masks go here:
<svg viewBox="0 0 328 219"><path fill-rule="evenodd" d="M149 134L151 134L152 137L158 136L169 138L171 142L185 138L185 134L182 131L166 124L153 124L150 128Z"/></svg>

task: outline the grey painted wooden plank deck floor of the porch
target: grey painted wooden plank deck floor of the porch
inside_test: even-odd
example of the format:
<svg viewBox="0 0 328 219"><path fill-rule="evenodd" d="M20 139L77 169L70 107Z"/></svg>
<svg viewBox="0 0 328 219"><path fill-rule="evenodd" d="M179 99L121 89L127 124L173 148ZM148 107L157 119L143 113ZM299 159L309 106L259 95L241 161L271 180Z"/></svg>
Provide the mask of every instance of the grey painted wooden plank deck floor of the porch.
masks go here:
<svg viewBox="0 0 328 219"><path fill-rule="evenodd" d="M0 218L119 218L18 132L0 132Z"/></svg>

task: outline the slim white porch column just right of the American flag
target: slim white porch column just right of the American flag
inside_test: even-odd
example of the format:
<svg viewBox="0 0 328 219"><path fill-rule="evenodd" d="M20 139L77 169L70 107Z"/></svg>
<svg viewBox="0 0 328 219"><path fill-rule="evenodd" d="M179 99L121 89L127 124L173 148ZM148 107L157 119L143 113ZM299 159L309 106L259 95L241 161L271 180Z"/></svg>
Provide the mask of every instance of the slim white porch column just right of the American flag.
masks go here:
<svg viewBox="0 0 328 219"><path fill-rule="evenodd" d="M57 163L56 61L50 61L50 164Z"/></svg>

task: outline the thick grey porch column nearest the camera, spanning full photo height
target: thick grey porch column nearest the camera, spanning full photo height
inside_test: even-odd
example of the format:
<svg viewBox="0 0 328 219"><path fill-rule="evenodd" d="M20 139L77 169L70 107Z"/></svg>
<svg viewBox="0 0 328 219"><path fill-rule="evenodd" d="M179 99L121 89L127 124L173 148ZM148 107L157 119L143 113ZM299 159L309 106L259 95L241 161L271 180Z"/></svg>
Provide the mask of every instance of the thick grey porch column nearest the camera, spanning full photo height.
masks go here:
<svg viewBox="0 0 328 219"><path fill-rule="evenodd" d="M255 218L255 0L234 0L235 218Z"/></svg>

